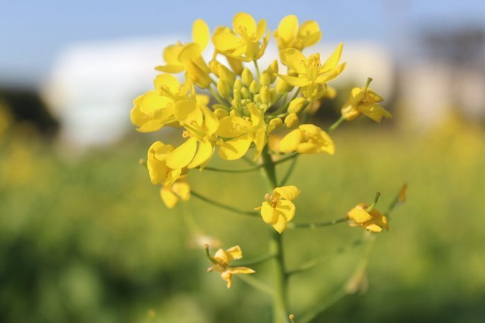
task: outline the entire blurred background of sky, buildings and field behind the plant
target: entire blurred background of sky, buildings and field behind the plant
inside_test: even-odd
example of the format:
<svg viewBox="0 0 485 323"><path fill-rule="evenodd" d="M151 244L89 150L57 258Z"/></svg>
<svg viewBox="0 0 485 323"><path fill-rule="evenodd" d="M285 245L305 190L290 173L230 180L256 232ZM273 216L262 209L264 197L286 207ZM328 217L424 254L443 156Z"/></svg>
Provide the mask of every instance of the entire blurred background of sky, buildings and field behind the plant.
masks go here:
<svg viewBox="0 0 485 323"><path fill-rule="evenodd" d="M129 121L164 47L189 41L197 18L213 30L239 11L270 30L285 15L317 20L324 38L307 54L344 42L348 67L331 84L339 94L315 122L333 123L349 89L369 76L394 116L344 123L335 156L303 156L290 178L303 222L333 220L376 191L385 209L409 184L376 241L367 293L315 322L484 322L485 2L477 0L0 1L0 322L270 320L270 299L239 279L227 290L206 273L200 249L239 244L253 259L267 251L267 227L194 198L166 209L138 164L160 134L137 133ZM263 66L276 55L270 44ZM190 182L243 209L265 193L257 173L193 172ZM288 266L361 234L346 225L288 232ZM360 254L292 279L294 311L340 288Z"/></svg>

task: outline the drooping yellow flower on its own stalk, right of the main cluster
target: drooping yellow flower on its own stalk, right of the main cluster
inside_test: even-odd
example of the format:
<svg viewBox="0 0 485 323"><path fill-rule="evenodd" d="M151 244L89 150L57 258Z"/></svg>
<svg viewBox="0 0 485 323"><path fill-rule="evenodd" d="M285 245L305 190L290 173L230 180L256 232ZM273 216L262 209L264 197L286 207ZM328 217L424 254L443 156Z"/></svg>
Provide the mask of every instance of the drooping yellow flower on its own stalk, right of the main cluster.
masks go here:
<svg viewBox="0 0 485 323"><path fill-rule="evenodd" d="M342 107L342 116L348 121L351 121L360 114L368 116L376 122L380 122L382 117L391 118L389 111L385 110L379 102L384 99L376 92L369 89L372 79L367 80L364 87L354 87L351 91L349 101Z"/></svg>

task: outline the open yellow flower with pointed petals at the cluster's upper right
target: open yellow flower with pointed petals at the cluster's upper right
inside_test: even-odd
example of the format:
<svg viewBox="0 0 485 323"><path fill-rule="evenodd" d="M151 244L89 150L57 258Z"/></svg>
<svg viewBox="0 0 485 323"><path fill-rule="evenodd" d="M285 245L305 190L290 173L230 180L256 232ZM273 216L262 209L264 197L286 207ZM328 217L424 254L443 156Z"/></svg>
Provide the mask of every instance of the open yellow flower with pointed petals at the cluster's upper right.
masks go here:
<svg viewBox="0 0 485 323"><path fill-rule="evenodd" d="M324 85L344 71L345 63L338 64L342 55L342 47L343 44L340 43L324 64L321 64L318 53L306 58L298 49L283 49L279 52L281 62L290 67L290 74L296 73L297 76L281 74L278 76L294 87Z"/></svg>

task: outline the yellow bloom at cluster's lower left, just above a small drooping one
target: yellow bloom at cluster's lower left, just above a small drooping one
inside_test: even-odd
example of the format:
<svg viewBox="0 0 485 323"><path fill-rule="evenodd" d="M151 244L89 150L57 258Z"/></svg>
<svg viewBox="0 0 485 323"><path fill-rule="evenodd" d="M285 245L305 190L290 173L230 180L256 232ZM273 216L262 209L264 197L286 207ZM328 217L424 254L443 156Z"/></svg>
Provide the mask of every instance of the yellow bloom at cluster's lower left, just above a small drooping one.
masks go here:
<svg viewBox="0 0 485 323"><path fill-rule="evenodd" d="M152 184L170 186L182 174L182 168L171 168L166 159L175 148L161 141L155 141L148 149L147 168Z"/></svg>

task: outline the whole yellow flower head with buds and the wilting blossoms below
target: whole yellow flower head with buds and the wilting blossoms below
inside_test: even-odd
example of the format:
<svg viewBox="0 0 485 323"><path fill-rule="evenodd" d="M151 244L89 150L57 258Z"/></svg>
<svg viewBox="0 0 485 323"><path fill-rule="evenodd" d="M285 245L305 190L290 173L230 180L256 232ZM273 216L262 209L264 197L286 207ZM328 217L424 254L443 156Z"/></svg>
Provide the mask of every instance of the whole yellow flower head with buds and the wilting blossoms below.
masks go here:
<svg viewBox="0 0 485 323"><path fill-rule="evenodd" d="M161 199L167 207L197 196L186 182L188 172L204 170L215 154L227 161L249 154L256 168L265 168L268 173L267 166L273 167L276 158L322 152L333 155L335 145L328 132L343 121L360 114L378 122L391 116L379 104L382 97L369 89L369 79L364 87L351 91L340 121L327 132L308 123L308 115L315 113L319 101L335 97L335 89L327 83L346 67L340 62L343 44L326 59L319 53L303 54L321 39L319 25L316 21L300 25L296 16L289 15L273 33L279 60L261 69L258 60L265 54L271 35L264 19L256 22L240 12L231 27L220 26L213 33L205 21L197 19L192 42L178 42L163 51L164 63L155 68L161 73L154 88L134 100L130 117L139 132L170 127L182 136L179 146L156 141L148 149L150 180L161 186ZM210 42L213 53L204 55ZM274 132L283 132L281 139L274 140ZM292 200L300 191L293 185L276 186L274 180L272 193L267 193L258 209L263 221L281 234L294 218ZM387 228L384 216L375 210L367 212L361 205L348 218L353 225L373 232ZM239 247L233 247L219 250L211 258L211 270L219 270L228 287L231 274L252 272L229 266L229 261L240 256Z"/></svg>

